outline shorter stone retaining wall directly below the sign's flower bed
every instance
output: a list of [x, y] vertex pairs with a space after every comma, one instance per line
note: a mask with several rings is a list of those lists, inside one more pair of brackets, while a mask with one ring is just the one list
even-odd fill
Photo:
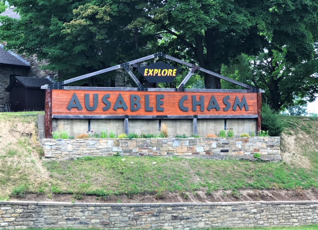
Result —
[[280, 137], [43, 139], [45, 159], [80, 156], [185, 156], [280, 160]]

